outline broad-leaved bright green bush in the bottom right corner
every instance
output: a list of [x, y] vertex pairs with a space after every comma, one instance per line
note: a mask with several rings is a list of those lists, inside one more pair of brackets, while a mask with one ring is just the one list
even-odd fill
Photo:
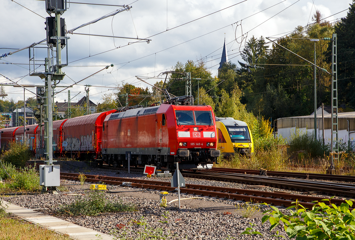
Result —
[[289, 238], [296, 240], [355, 240], [355, 210], [349, 209], [353, 202], [346, 200], [346, 203], [338, 207], [331, 204], [329, 199], [322, 201], [329, 201], [329, 205], [318, 202], [313, 205], [311, 211], [296, 201], [296, 206], [288, 208], [296, 208], [296, 211], [290, 210], [290, 215], [285, 215], [278, 208], [271, 206], [273, 209], [264, 212], [271, 214], [263, 216], [262, 223], [269, 220], [271, 231], [283, 222]]

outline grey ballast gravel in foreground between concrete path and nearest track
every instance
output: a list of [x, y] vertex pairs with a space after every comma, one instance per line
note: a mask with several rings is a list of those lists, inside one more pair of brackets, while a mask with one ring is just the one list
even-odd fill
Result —
[[[63, 181], [63, 184], [77, 184], [66, 185], [68, 191], [87, 187], [87, 185], [81, 186], [78, 182], [73, 181]], [[131, 187], [115, 187], [115, 191], [134, 190]], [[149, 229], [162, 228], [165, 234], [170, 234], [170, 239], [276, 239], [272, 236], [276, 234], [276, 230], [288, 239], [283, 227], [277, 227], [270, 232], [270, 224], [261, 223], [263, 207], [250, 218], [240, 216], [240, 211], [236, 207], [239, 203], [210, 198], [181, 200], [181, 209], [178, 209], [177, 201], [169, 204], [168, 208], [163, 208], [159, 205], [159, 192], [157, 191], [105, 193], [110, 202], [122, 201], [135, 204], [137, 211], [134, 212], [104, 213], [94, 217], [67, 217], [58, 216], [55, 213], [60, 206], [75, 202], [77, 198], [85, 197], [84, 194], [87, 191], [76, 191], [75, 193], [79, 194], [77, 196], [42, 194], [10, 196], [3, 197], [3, 199], [21, 207], [54, 214], [69, 222], [102, 233], [113, 234], [116, 237], [127, 233], [135, 239], [138, 231], [142, 230], [138, 223], [146, 221], [150, 226]], [[189, 196], [182, 195], [181, 199], [185, 197]], [[168, 196], [168, 201], [176, 198], [176, 193], [171, 194]], [[250, 227], [250, 223], [255, 224], [255, 230], [262, 235], [254, 234], [252, 238], [249, 235], [241, 235], [247, 227]]]

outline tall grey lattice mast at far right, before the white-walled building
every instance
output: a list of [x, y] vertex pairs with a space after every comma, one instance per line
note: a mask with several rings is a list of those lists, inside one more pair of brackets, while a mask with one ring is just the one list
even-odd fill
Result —
[[[338, 159], [339, 154], [339, 139], [338, 139], [338, 74], [337, 74], [337, 34], [332, 36], [332, 131], [331, 131], [331, 166], [330, 170], [334, 169], [334, 160]], [[334, 140], [335, 138], [335, 140]], [[334, 152], [334, 153], [333, 153]]]

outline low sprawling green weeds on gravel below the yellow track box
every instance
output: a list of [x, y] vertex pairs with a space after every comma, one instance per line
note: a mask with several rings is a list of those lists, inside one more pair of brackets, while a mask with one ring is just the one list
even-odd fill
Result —
[[61, 206], [57, 212], [67, 216], [95, 216], [98, 213], [134, 211], [135, 209], [136, 207], [130, 203], [108, 201], [104, 192], [90, 191], [86, 197], [78, 197], [75, 202]]

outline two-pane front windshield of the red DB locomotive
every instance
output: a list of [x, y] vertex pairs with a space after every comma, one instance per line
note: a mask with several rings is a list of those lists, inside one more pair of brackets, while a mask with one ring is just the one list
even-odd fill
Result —
[[175, 111], [178, 125], [213, 125], [211, 111]]

